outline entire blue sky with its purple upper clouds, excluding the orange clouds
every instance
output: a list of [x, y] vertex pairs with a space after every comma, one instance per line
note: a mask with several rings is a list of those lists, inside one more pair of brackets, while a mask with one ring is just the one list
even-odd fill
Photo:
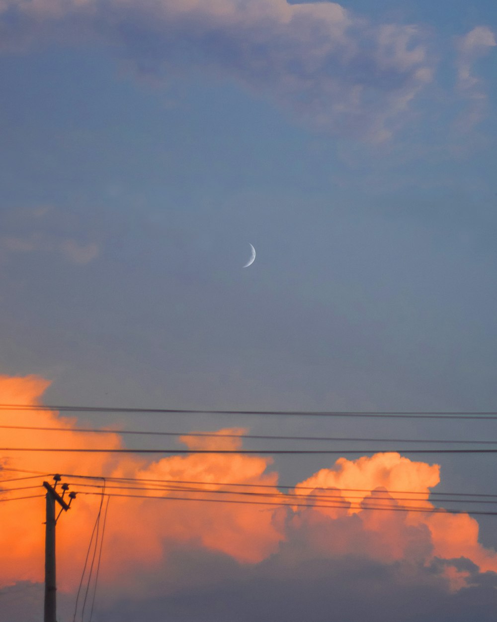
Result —
[[1, 373], [51, 403], [495, 410], [495, 2], [0, 0], [0, 32]]

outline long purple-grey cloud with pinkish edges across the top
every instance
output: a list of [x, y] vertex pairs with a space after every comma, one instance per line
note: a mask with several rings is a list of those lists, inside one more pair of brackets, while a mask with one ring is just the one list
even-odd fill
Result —
[[435, 65], [421, 27], [376, 25], [335, 2], [3, 0], [1, 6], [9, 14], [4, 46], [65, 31], [92, 33], [121, 45], [139, 70], [221, 72], [316, 128], [373, 141], [391, 136]]

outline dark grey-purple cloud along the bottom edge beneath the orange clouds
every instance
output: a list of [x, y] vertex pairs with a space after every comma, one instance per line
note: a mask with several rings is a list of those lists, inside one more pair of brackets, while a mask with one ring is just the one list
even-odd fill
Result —
[[380, 564], [357, 557], [303, 559], [295, 543], [251, 569], [209, 554], [171, 559], [178, 574], [189, 573], [188, 588], [165, 580], [163, 595], [123, 600], [99, 611], [102, 619], [138, 618], [204, 622], [408, 622], [493, 620], [495, 573], [478, 573], [467, 560], [455, 562], [470, 575], [471, 587], [457, 593], [430, 567], [399, 562]]

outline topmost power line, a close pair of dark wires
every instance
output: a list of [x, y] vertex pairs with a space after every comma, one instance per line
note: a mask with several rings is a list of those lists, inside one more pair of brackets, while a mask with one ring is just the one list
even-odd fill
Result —
[[497, 411], [258, 411], [209, 410], [178, 408], [142, 408], [121, 406], [42, 406], [34, 404], [0, 404], [1, 411], [58, 411], [58, 412], [122, 412], [131, 414], [191, 414], [191, 415], [267, 415], [285, 417], [389, 417], [414, 419], [497, 419]]

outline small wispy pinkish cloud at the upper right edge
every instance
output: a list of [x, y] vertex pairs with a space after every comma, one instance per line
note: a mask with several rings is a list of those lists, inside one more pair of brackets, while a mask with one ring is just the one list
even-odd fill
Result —
[[488, 26], [476, 26], [457, 41], [457, 78], [458, 89], [468, 100], [468, 108], [458, 126], [464, 129], [472, 128], [485, 117], [487, 96], [485, 85], [481, 78], [475, 76], [475, 62], [490, 53], [495, 47], [495, 34]]

